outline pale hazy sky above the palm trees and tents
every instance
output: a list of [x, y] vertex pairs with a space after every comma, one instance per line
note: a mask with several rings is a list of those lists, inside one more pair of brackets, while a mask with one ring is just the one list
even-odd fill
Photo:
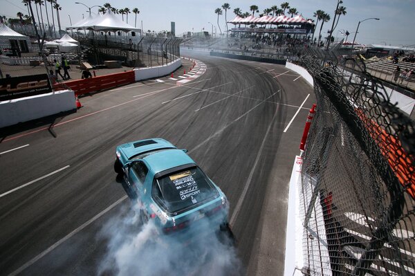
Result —
[[[75, 0], [76, 1], [76, 0]], [[72, 23], [82, 19], [82, 14], [86, 16], [88, 9], [80, 4], [75, 4], [71, 0], [57, 0], [62, 11], [60, 13], [62, 26], [70, 26], [69, 16]], [[324, 23], [322, 34], [326, 36], [327, 30], [331, 28], [334, 17], [334, 10], [338, 0], [151, 0], [151, 1], [133, 1], [133, 0], [117, 0], [117, 1], [100, 1], [100, 0], [82, 0], [80, 2], [86, 6], [104, 5], [111, 3], [115, 8], [138, 8], [140, 14], [137, 16], [137, 28], [140, 28], [141, 21], [143, 30], [170, 30], [170, 22], [176, 23], [176, 35], [183, 33], [199, 32], [201, 30], [212, 30], [212, 24], [217, 27], [217, 15], [214, 13], [216, 8], [221, 8], [223, 3], [230, 4], [230, 10], [227, 11], [228, 21], [234, 19], [234, 8], [240, 8], [243, 12], [249, 12], [249, 7], [256, 5], [259, 7], [259, 13], [271, 6], [280, 6], [281, 3], [287, 1], [291, 8], [297, 8], [297, 11], [305, 18], [312, 18], [316, 10], [324, 10], [331, 16], [331, 21]], [[414, 11], [415, 0], [342, 0], [340, 6], [346, 7], [347, 14], [340, 17], [338, 27], [333, 35], [335, 37], [344, 38], [339, 30], [348, 30], [348, 40], [353, 40], [354, 33], [358, 26], [358, 22], [370, 17], [378, 17], [380, 20], [367, 20], [360, 24], [356, 42], [361, 44], [383, 44], [392, 46], [414, 46], [415, 44], [415, 24]], [[0, 15], [6, 17], [17, 17], [17, 12], [27, 14], [27, 9], [21, 0], [0, 0]], [[92, 8], [92, 12], [98, 12], [98, 8]], [[45, 13], [45, 12], [44, 12]], [[69, 15], [69, 16], [68, 16]], [[287, 12], [286, 12], [286, 15]], [[121, 18], [121, 15], [119, 15]], [[125, 17], [125, 15], [124, 15]], [[44, 15], [46, 20], [46, 15]], [[56, 20], [56, 19], [55, 19]], [[125, 21], [125, 18], [124, 18]], [[129, 24], [134, 25], [135, 15], [129, 15]], [[212, 22], [212, 24], [208, 23]], [[221, 30], [226, 30], [225, 12], [219, 16], [219, 26]], [[232, 24], [228, 24], [228, 28], [232, 28]], [[320, 30], [320, 23], [317, 31]]]

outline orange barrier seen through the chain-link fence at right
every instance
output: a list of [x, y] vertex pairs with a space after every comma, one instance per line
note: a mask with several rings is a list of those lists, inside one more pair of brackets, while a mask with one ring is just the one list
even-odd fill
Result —
[[387, 134], [385, 129], [382, 129], [374, 120], [367, 118], [362, 110], [356, 109], [356, 113], [369, 131], [371, 138], [378, 144], [382, 155], [387, 158], [389, 166], [395, 172], [400, 184], [405, 187], [412, 199], [415, 199], [414, 165], [403, 149], [400, 140]]

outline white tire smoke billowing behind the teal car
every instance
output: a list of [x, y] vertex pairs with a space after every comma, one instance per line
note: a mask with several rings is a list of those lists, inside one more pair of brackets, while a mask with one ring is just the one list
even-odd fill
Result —
[[[169, 235], [159, 235], [150, 220], [142, 225], [140, 210], [116, 215], [100, 234], [107, 239], [107, 255], [98, 275], [241, 275], [241, 261], [232, 242], [214, 234], [183, 245]], [[203, 228], [212, 229], [206, 221]], [[218, 226], [214, 226], [217, 228]]]

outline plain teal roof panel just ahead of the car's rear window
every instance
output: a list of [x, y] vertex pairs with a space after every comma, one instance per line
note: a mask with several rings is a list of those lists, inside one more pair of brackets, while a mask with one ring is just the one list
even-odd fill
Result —
[[186, 164], [194, 164], [194, 160], [190, 158], [181, 149], [166, 149], [164, 151], [156, 151], [143, 158], [154, 174], [163, 172], [166, 169], [178, 167]]

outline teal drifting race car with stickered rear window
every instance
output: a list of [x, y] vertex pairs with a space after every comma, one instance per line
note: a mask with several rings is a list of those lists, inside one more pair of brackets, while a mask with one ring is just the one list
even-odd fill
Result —
[[225, 194], [185, 152], [160, 138], [128, 142], [116, 148], [114, 170], [142, 221], [154, 219], [164, 234], [214, 230], [233, 239]]

